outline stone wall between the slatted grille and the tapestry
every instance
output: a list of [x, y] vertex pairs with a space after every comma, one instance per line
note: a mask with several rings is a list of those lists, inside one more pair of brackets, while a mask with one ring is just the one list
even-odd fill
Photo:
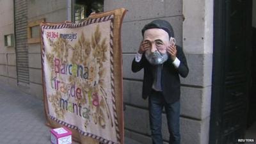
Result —
[[[63, 22], [67, 20], [67, 1], [63, 0], [29, 0], [28, 21], [45, 19], [46, 22]], [[40, 43], [28, 44], [29, 87], [31, 95], [42, 99], [42, 65]]]

